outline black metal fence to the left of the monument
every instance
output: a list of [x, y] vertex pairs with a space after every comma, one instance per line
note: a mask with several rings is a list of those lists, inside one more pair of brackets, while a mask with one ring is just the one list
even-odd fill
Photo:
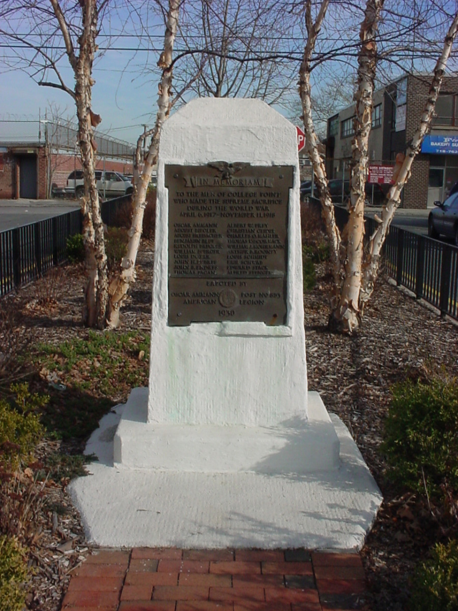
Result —
[[[101, 216], [112, 225], [131, 196], [101, 203]], [[67, 240], [81, 233], [80, 210], [0, 232], [0, 296], [40, 277], [67, 259]]]

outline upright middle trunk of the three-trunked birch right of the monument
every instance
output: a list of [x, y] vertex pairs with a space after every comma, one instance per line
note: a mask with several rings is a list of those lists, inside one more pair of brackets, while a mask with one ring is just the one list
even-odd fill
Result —
[[368, 0], [360, 29], [361, 48], [358, 53], [358, 87], [355, 93], [355, 136], [352, 141], [349, 218], [344, 232], [346, 241], [344, 282], [338, 306], [332, 313], [335, 326], [341, 327], [343, 332], [350, 334], [360, 324], [365, 184], [376, 76], [376, 32], [382, 7], [383, 0]]

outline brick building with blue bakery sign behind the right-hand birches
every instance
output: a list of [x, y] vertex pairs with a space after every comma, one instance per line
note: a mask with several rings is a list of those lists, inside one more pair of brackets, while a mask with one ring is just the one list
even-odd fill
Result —
[[[374, 92], [369, 164], [392, 166], [396, 154], [405, 153], [420, 125], [430, 84], [431, 75], [408, 75]], [[349, 178], [354, 116], [353, 104], [328, 119], [326, 165], [329, 178]], [[445, 76], [431, 133], [413, 161], [412, 177], [402, 192], [402, 206], [432, 207], [436, 200], [446, 198], [457, 180], [458, 79]]]

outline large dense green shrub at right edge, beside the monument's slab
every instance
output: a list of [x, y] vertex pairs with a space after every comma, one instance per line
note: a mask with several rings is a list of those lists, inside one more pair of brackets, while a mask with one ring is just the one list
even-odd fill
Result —
[[392, 390], [382, 450], [388, 477], [429, 496], [458, 491], [458, 383], [434, 378]]

